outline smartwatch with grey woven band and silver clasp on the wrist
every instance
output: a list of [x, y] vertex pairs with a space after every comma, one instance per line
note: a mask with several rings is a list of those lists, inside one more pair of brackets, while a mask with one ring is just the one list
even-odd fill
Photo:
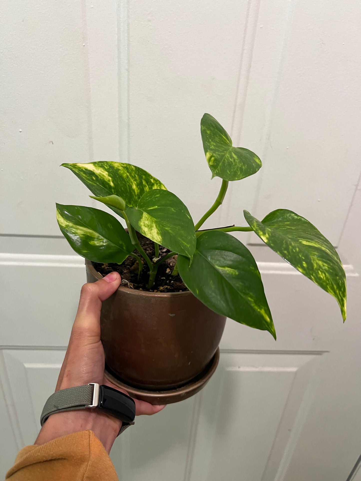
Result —
[[133, 399], [123, 392], [96, 382], [54, 392], [45, 403], [40, 424], [42, 426], [49, 416], [55, 413], [94, 408], [101, 409], [104, 413], [122, 421], [119, 434], [134, 424]]

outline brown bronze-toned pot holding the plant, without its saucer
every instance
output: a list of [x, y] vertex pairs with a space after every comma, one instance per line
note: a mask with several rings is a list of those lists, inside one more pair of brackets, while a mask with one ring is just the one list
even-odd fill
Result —
[[[86, 259], [88, 282], [103, 276]], [[105, 363], [131, 386], [167, 390], [196, 378], [215, 355], [226, 318], [190, 291], [157, 293], [120, 286], [103, 302]]]

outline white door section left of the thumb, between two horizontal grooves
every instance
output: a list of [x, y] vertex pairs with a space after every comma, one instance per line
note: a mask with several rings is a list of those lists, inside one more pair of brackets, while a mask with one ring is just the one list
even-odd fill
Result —
[[1, 344], [66, 346], [86, 282], [84, 259], [0, 253], [0, 271]]

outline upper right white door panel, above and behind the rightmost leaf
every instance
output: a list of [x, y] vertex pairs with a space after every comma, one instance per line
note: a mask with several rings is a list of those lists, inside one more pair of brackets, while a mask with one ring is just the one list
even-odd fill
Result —
[[[360, 174], [355, 139], [361, 126], [361, 7], [357, 1], [345, 9], [334, 0], [327, 8], [322, 1], [280, 2], [289, 6], [284, 22], [273, 16], [277, 3], [260, 2], [241, 134], [242, 143], [257, 142], [260, 132], [263, 139], [255, 215], [288, 208], [337, 245]], [[268, 63], [273, 30], [283, 35], [283, 46]], [[268, 70], [278, 61], [277, 80], [269, 85]], [[264, 92], [270, 106], [262, 102]], [[262, 243], [255, 234], [251, 242]]]

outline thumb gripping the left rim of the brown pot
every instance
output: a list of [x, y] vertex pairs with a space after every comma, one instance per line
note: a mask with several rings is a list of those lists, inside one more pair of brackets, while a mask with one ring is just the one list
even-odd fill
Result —
[[111, 272], [97, 282], [84, 284], [80, 292], [77, 316], [73, 332], [85, 331], [94, 341], [100, 340], [100, 310], [102, 301], [108, 299], [119, 287], [121, 277], [117, 272]]

